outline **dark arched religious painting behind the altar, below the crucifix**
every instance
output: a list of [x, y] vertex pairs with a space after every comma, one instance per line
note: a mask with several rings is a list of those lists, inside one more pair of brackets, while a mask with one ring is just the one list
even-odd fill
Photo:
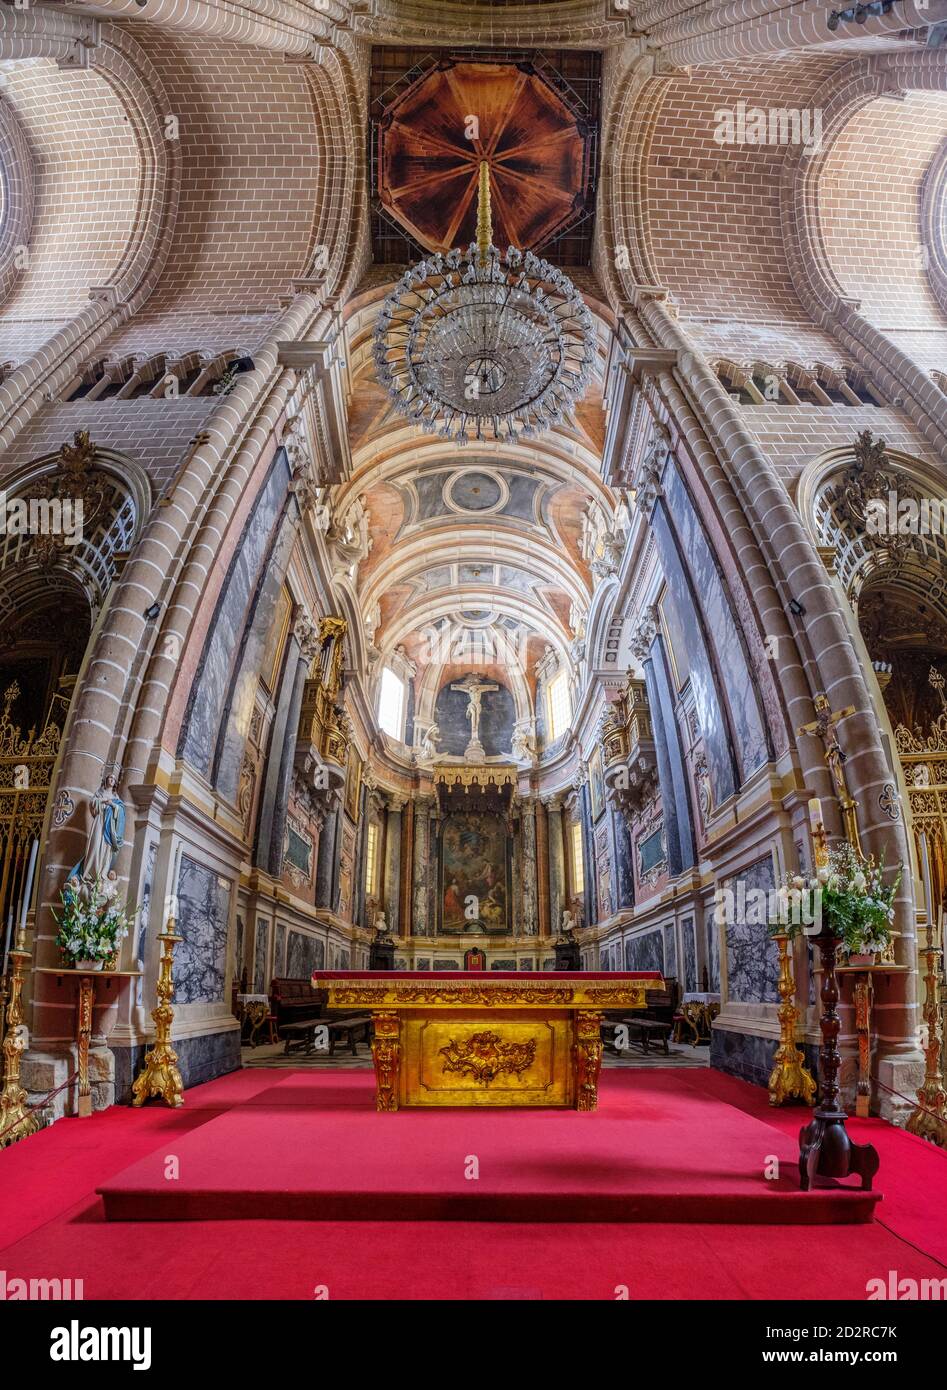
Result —
[[510, 853], [506, 824], [489, 812], [456, 812], [439, 840], [439, 930], [508, 935]]

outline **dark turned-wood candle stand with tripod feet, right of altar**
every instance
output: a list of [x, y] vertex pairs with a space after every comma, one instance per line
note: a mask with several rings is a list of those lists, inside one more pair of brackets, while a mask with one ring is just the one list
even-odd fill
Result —
[[857, 1173], [862, 1191], [871, 1191], [879, 1168], [877, 1150], [872, 1144], [855, 1144], [845, 1129], [845, 1112], [839, 1105], [839, 937], [822, 931], [812, 938], [822, 960], [822, 1047], [819, 1048], [819, 1081], [822, 1098], [808, 1125], [800, 1130], [800, 1186], [804, 1193], [816, 1179], [836, 1186], [837, 1179]]

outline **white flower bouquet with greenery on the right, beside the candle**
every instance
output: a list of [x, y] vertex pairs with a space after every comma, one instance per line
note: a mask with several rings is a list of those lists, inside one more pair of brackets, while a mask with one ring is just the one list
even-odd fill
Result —
[[884, 883], [884, 859], [862, 860], [848, 842], [829, 851], [829, 862], [815, 876], [788, 874], [776, 890], [776, 912], [769, 922], [772, 934], [790, 937], [801, 931], [815, 935], [829, 931], [840, 938], [847, 955], [876, 955], [891, 942], [894, 898], [901, 884], [898, 866], [894, 881]]

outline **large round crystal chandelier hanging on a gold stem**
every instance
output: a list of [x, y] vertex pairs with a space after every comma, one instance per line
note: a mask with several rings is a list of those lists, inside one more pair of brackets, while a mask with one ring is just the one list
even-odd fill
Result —
[[456, 443], [531, 438], [588, 386], [592, 316], [560, 270], [492, 245], [489, 167], [480, 165], [477, 240], [402, 275], [374, 332], [378, 379], [395, 409]]

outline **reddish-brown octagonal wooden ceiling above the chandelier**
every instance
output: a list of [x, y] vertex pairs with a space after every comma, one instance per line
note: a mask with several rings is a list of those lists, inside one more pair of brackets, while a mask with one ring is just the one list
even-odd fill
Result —
[[594, 199], [588, 122], [530, 63], [444, 60], [377, 126], [378, 196], [427, 250], [473, 240], [489, 164], [494, 242], [540, 250]]

